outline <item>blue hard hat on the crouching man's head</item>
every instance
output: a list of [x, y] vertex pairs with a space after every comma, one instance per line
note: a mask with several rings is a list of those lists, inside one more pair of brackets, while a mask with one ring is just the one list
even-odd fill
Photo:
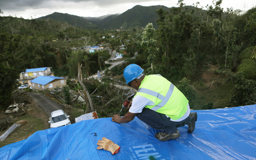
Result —
[[123, 70], [123, 77], [126, 81], [125, 84], [137, 78], [140, 74], [143, 73], [143, 71], [144, 70], [142, 70], [142, 68], [137, 64], [130, 64], [126, 66]]

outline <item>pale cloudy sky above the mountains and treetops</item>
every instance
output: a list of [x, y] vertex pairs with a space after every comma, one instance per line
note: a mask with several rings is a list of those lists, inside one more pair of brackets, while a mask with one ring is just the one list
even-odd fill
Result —
[[[199, 2], [205, 7], [212, 5], [212, 0], [184, 0], [186, 5]], [[39, 18], [54, 12], [68, 13], [84, 17], [99, 17], [106, 14], [123, 13], [136, 5], [166, 7], [178, 7], [178, 0], [156, 1], [156, 0], [0, 0], [1, 16], [17, 16], [25, 19]], [[221, 5], [224, 10], [233, 7], [247, 11], [256, 5], [256, 0], [223, 0]]]

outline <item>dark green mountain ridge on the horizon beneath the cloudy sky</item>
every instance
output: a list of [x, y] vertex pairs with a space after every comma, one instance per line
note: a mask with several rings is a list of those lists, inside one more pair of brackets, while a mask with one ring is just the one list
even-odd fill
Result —
[[[189, 9], [195, 7], [186, 6]], [[80, 17], [76, 15], [70, 15], [68, 13], [58, 13], [54, 12], [53, 14], [39, 17], [37, 19], [52, 19], [61, 22], [68, 22], [71, 26], [78, 28], [87, 28], [87, 29], [120, 29], [120, 28], [135, 28], [135, 27], [145, 27], [148, 23], [152, 23], [154, 28], [158, 28], [156, 20], [158, 15], [156, 10], [163, 8], [165, 11], [169, 11], [170, 8], [165, 6], [149, 6], [144, 7], [137, 5], [132, 9], [129, 9], [122, 14], [109, 14], [100, 17]]]

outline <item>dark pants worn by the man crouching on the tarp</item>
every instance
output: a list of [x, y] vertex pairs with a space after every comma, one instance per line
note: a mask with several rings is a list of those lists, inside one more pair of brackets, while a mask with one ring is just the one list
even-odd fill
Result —
[[175, 133], [178, 127], [187, 125], [191, 121], [190, 116], [180, 122], [170, 121], [170, 118], [166, 117], [166, 115], [148, 108], [143, 108], [142, 112], [137, 114], [137, 117], [148, 126], [167, 134]]

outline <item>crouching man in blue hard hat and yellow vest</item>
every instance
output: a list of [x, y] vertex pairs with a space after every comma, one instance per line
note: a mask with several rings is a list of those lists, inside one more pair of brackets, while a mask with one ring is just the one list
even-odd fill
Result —
[[123, 117], [114, 115], [113, 122], [128, 123], [137, 116], [148, 126], [160, 130], [155, 138], [160, 141], [177, 139], [178, 127], [188, 125], [188, 133], [196, 126], [197, 112], [190, 112], [188, 100], [171, 82], [161, 75], [144, 75], [144, 70], [137, 64], [125, 67], [125, 84], [138, 90], [129, 112]]

